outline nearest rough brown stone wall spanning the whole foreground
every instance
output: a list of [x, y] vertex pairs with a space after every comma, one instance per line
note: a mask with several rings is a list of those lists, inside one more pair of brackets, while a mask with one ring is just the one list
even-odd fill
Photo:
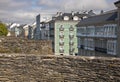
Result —
[[2, 54], [0, 82], [120, 82], [120, 59]]

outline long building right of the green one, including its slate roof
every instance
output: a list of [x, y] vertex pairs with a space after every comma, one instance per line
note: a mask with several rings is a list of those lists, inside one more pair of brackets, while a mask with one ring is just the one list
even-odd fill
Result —
[[117, 55], [117, 10], [91, 16], [77, 24], [78, 55]]

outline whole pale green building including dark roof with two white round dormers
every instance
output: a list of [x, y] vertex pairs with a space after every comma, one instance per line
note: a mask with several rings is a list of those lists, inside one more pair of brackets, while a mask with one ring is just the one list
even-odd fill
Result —
[[85, 16], [85, 13], [59, 12], [49, 21], [49, 35], [55, 55], [77, 55], [76, 24]]

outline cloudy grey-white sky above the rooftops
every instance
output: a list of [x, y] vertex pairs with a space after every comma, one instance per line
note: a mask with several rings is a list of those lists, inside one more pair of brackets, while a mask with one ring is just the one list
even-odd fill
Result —
[[108, 11], [115, 9], [117, 0], [0, 0], [0, 20], [3, 22], [32, 23], [39, 13], [82, 10]]

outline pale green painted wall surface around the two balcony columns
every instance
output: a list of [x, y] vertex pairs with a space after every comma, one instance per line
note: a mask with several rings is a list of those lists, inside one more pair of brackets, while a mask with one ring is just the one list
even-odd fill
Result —
[[78, 49], [77, 49], [77, 37], [76, 37], [76, 33], [77, 33], [77, 30], [76, 30], [76, 24], [78, 22], [77, 21], [56, 21], [55, 22], [55, 53], [57, 54], [60, 54], [59, 53], [59, 49], [60, 49], [60, 46], [59, 46], [59, 41], [60, 41], [60, 38], [59, 38], [59, 34], [60, 34], [60, 31], [59, 31], [59, 28], [61, 25], [63, 25], [63, 28], [64, 28], [64, 31], [63, 31], [63, 34], [64, 34], [64, 55], [70, 55], [69, 53], [69, 48], [70, 48], [70, 45], [69, 45], [69, 42], [70, 42], [70, 38], [69, 38], [69, 34], [70, 34], [70, 31], [69, 31], [69, 28], [70, 26], [72, 25], [73, 28], [74, 28], [74, 31], [72, 31], [72, 33], [74, 34], [74, 38], [72, 39], [72, 41], [74, 42], [74, 45], [73, 45], [73, 48], [75, 48], [73, 54], [75, 53], [78, 53]]

